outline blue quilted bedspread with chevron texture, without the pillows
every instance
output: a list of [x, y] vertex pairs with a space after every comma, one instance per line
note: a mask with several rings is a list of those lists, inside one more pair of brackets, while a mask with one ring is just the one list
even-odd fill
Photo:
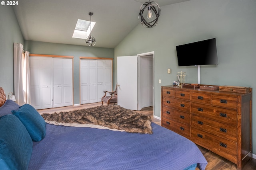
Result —
[[200, 170], [206, 160], [190, 140], [152, 123], [153, 134], [46, 124], [29, 170]]

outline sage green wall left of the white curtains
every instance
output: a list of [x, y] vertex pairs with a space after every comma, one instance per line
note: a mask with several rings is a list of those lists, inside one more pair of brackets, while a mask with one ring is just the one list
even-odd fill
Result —
[[14, 92], [13, 44], [24, 43], [12, 6], [0, 6], [0, 87]]

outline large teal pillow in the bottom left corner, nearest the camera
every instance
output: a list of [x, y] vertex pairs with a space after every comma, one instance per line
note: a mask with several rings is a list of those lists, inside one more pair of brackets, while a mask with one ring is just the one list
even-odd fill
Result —
[[0, 169], [28, 169], [32, 146], [26, 127], [16, 116], [0, 117]]

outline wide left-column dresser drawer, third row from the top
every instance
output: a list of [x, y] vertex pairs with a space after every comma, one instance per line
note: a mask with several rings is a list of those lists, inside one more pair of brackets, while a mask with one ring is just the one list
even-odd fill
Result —
[[179, 121], [181, 123], [190, 125], [190, 113], [185, 113], [175, 109], [170, 109], [170, 107], [163, 106], [163, 116], [168, 117], [174, 121]]

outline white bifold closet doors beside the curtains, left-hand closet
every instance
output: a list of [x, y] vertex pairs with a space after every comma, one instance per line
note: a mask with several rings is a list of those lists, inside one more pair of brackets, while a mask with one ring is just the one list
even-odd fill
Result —
[[36, 109], [73, 105], [73, 59], [30, 57], [31, 104]]

